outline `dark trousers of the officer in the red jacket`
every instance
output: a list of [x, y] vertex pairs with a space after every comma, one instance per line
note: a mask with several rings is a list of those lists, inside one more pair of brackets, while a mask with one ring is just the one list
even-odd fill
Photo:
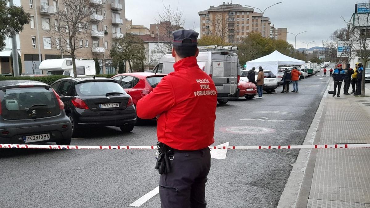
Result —
[[211, 168], [209, 148], [174, 154], [171, 172], [159, 179], [162, 208], [205, 208], [205, 187]]

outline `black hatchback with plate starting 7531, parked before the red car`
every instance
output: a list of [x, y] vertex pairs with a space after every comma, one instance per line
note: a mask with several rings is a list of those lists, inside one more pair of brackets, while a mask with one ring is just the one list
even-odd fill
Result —
[[102, 77], [63, 78], [51, 87], [64, 103], [73, 137], [84, 127], [117, 126], [124, 132], [134, 129], [136, 110], [132, 98], [117, 81]]

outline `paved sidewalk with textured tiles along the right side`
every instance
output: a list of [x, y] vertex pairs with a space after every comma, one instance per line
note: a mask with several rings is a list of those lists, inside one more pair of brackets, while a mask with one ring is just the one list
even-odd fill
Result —
[[[329, 83], [330, 90], [333, 84]], [[342, 95], [343, 85], [341, 91], [339, 99], [324, 95], [313, 144], [370, 144], [370, 97]], [[290, 175], [293, 188], [300, 190], [296, 204], [284, 203], [283, 193], [278, 207], [370, 208], [370, 148], [316, 149], [307, 155], [301, 184], [295, 177], [302, 173], [294, 171], [294, 164]]]

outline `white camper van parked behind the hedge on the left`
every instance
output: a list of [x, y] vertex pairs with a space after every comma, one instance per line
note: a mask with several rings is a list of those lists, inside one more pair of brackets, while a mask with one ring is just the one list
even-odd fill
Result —
[[[86, 75], [95, 74], [94, 60], [78, 60], [76, 61], [77, 77], [85, 77]], [[74, 77], [72, 58], [57, 58], [43, 60], [38, 67], [41, 71], [46, 71], [45, 74], [65, 75]]]

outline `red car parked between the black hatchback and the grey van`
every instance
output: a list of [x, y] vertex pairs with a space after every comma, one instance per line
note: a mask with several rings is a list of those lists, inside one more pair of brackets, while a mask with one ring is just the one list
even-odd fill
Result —
[[136, 72], [117, 74], [112, 79], [117, 80], [118, 84], [132, 97], [134, 105], [149, 94], [162, 80], [166, 74], [155, 74], [150, 72]]

